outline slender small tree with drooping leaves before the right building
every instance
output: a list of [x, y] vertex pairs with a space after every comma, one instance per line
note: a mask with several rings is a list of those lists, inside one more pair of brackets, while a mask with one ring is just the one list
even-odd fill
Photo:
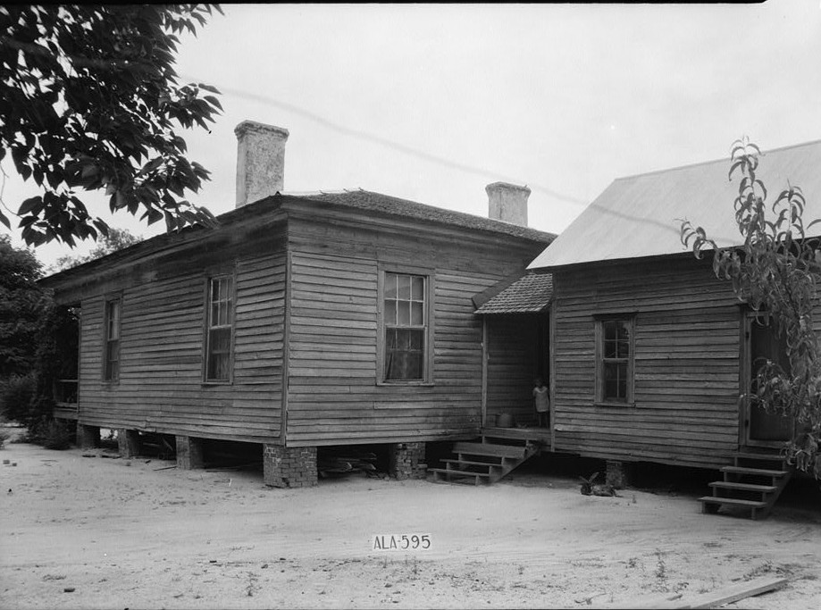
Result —
[[697, 258], [711, 251], [716, 277], [732, 280], [742, 301], [775, 322], [789, 371], [768, 360], [744, 398], [768, 412], [794, 418], [797, 434], [787, 447], [788, 457], [801, 470], [821, 478], [821, 345], [813, 322], [819, 305], [821, 243], [810, 232], [821, 221], [805, 226], [806, 200], [801, 189], [792, 185], [767, 206], [767, 188], [758, 178], [760, 155], [758, 146], [746, 139], [733, 144], [729, 178], [741, 174], [733, 208], [742, 245], [718, 247], [691, 221], [682, 221], [681, 238]]

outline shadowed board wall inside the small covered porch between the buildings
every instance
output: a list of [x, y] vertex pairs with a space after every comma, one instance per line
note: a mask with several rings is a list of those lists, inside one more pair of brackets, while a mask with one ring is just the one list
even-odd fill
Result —
[[517, 423], [534, 423], [535, 316], [492, 315], [487, 323], [488, 425], [494, 425], [495, 416], [503, 413], [513, 414]]

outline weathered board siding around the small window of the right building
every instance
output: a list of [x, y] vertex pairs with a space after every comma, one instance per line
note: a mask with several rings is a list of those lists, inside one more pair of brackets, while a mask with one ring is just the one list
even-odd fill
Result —
[[[556, 450], [717, 467], [738, 448], [741, 312], [691, 257], [554, 273]], [[635, 313], [635, 405], [594, 400], [597, 313]]]

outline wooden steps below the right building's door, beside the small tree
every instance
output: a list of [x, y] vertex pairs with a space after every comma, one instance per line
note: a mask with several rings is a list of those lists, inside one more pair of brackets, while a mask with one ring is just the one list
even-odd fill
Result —
[[772, 451], [740, 451], [721, 472], [724, 480], [709, 484], [712, 495], [699, 498], [702, 513], [736, 508], [749, 510], [752, 519], [764, 519], [792, 476], [783, 457]]

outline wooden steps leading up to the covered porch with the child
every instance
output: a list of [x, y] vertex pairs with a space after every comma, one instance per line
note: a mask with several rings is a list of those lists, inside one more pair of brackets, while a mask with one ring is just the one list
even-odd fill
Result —
[[[501, 429], [500, 429], [501, 430]], [[540, 444], [519, 431], [487, 430], [473, 442], [454, 443], [444, 468], [429, 468], [437, 482], [490, 485], [540, 452]]]

